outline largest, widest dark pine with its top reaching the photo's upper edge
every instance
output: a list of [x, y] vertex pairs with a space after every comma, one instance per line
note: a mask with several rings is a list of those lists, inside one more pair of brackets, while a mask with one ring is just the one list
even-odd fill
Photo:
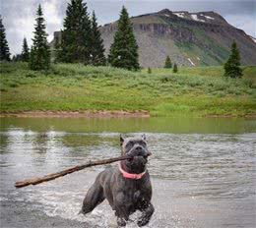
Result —
[[87, 4], [83, 0], [71, 0], [63, 26], [58, 59], [67, 63], [90, 63], [92, 28]]

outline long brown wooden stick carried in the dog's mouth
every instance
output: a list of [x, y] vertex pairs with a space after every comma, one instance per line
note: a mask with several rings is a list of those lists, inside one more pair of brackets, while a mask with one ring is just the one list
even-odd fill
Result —
[[125, 159], [129, 159], [129, 158], [131, 158], [131, 156], [119, 156], [119, 157], [114, 157], [114, 158], [109, 158], [109, 159], [104, 159], [104, 160], [99, 160], [99, 161], [89, 161], [86, 164], [77, 165], [75, 167], [65, 169], [65, 170], [57, 172], [57, 173], [48, 174], [48, 175], [43, 176], [43, 177], [27, 179], [27, 180], [24, 180], [24, 181], [18, 181], [18, 182], [15, 183], [15, 187], [16, 188], [23, 188], [23, 187], [26, 187], [26, 186], [29, 186], [29, 185], [38, 185], [42, 182], [51, 181], [51, 180], [54, 180], [56, 178], [63, 177], [67, 174], [74, 173], [74, 172], [80, 171], [82, 169], [91, 167], [91, 166], [109, 164], [109, 163], [112, 163], [112, 162], [115, 162], [115, 161], [125, 160]]

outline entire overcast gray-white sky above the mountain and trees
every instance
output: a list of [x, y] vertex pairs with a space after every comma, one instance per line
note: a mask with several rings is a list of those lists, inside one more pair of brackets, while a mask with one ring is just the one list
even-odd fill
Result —
[[[46, 19], [48, 40], [53, 31], [62, 28], [63, 18], [69, 0], [3, 0], [0, 14], [6, 28], [12, 54], [21, 52], [22, 40], [26, 36], [32, 44], [32, 30], [35, 12], [40, 3]], [[256, 37], [256, 0], [91, 0], [89, 12], [96, 11], [99, 25], [116, 21], [122, 5], [130, 16], [153, 13], [162, 9], [170, 11], [215, 11], [236, 28]]]

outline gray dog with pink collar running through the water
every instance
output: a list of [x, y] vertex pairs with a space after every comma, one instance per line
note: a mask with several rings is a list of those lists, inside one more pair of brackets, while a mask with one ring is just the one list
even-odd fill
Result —
[[123, 160], [118, 167], [107, 168], [97, 175], [95, 184], [83, 201], [81, 212], [87, 214], [107, 199], [115, 211], [118, 226], [125, 226], [129, 215], [136, 210], [142, 211], [137, 224], [144, 226], [154, 213], [152, 185], [146, 169], [151, 153], [145, 135], [141, 138], [120, 137], [120, 144], [122, 155], [131, 156], [131, 159]]

